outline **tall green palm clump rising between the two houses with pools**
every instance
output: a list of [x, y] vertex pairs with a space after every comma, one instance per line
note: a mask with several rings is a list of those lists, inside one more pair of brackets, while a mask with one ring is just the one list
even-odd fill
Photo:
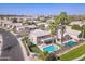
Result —
[[56, 35], [57, 35], [58, 27], [60, 26], [60, 29], [61, 29], [61, 42], [62, 42], [63, 33], [66, 30], [66, 25], [68, 23], [69, 23], [69, 20], [68, 20], [67, 13], [61, 12], [60, 15], [58, 17], [56, 17], [55, 21], [52, 22], [48, 25], [52, 35], [55, 35], [55, 31], [56, 31]]

